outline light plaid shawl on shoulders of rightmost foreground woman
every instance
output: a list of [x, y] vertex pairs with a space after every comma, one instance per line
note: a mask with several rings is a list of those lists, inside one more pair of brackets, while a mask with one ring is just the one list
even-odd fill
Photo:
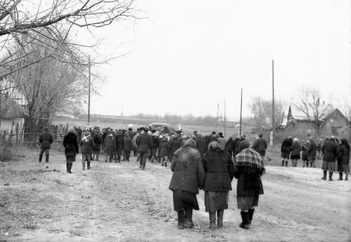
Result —
[[252, 168], [258, 168], [265, 172], [262, 157], [256, 152], [256, 150], [251, 148], [243, 149], [237, 154], [237, 156], [235, 156], [234, 166], [249, 166]]

